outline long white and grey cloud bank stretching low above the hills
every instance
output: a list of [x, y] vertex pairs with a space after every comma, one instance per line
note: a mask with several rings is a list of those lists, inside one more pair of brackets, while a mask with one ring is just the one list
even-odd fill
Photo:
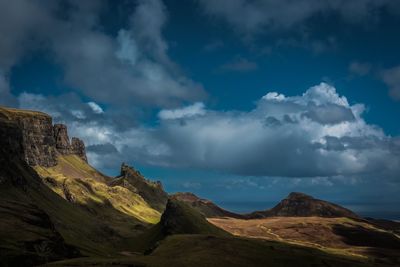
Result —
[[[26, 96], [19, 100], [27, 108], [40, 102]], [[70, 114], [68, 124], [87, 143], [90, 161], [101, 168], [128, 161], [240, 176], [391, 181], [400, 173], [400, 139], [366, 123], [362, 104], [350, 105], [325, 83], [300, 96], [269, 92], [247, 112], [210, 110], [202, 103], [166, 109], [157, 125], [123, 130], [107, 119], [107, 111], [82, 107], [76, 109], [86, 119]]]

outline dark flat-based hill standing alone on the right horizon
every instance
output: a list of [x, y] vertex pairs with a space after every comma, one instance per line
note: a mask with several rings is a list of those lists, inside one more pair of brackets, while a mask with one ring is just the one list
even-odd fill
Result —
[[254, 219], [272, 216], [358, 218], [357, 214], [339, 205], [297, 192], [290, 193], [272, 209], [247, 214], [246, 218]]

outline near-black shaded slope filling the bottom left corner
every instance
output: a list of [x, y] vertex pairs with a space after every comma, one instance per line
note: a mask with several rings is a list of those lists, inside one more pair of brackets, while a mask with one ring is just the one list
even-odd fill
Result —
[[32, 174], [0, 146], [0, 266], [32, 266], [80, 255], [30, 198], [30, 186], [37, 190], [40, 184], [38, 177], [29, 177]]

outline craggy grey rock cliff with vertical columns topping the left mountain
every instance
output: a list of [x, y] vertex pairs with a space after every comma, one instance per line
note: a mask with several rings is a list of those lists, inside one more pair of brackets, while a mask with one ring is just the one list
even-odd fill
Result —
[[57, 165], [57, 155], [77, 154], [86, 161], [85, 146], [77, 138], [70, 143], [67, 127], [42, 112], [0, 107], [0, 143], [30, 166]]

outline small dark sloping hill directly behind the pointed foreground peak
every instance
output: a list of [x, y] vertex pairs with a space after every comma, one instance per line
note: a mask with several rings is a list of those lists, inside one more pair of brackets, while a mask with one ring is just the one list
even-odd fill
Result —
[[198, 196], [190, 192], [175, 193], [171, 197], [173, 199], [177, 199], [179, 201], [189, 204], [192, 208], [196, 209], [207, 218], [214, 218], [214, 217], [243, 218], [243, 215], [224, 210], [215, 205], [212, 201], [199, 198]]

